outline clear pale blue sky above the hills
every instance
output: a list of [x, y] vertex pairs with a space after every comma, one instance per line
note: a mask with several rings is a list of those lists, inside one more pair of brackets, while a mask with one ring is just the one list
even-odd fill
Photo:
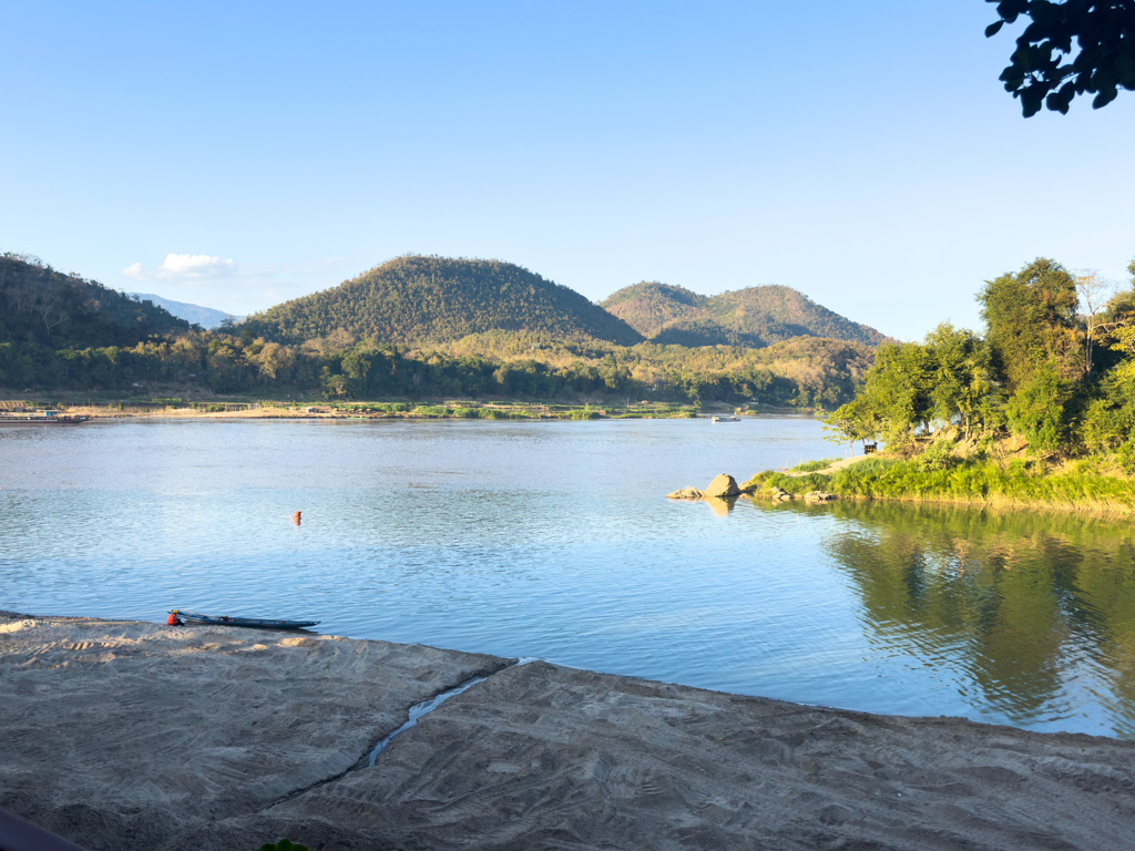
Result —
[[1129, 281], [1135, 92], [1024, 119], [981, 0], [0, 0], [0, 251], [232, 313], [407, 252], [762, 284], [900, 339]]

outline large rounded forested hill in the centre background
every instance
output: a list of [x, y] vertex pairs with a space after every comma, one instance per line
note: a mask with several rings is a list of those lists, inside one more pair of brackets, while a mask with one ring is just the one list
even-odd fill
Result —
[[280, 342], [337, 329], [384, 342], [440, 343], [493, 330], [592, 337], [632, 346], [642, 337], [585, 296], [498, 260], [402, 256], [242, 323]]

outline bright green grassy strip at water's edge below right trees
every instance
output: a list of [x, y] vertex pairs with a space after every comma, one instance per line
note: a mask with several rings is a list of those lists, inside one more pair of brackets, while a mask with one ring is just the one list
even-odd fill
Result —
[[920, 458], [866, 458], [825, 474], [757, 473], [742, 485], [755, 495], [781, 488], [793, 496], [827, 490], [847, 499], [1024, 506], [1102, 514], [1135, 509], [1135, 481], [1108, 470], [1105, 460], [1087, 460], [1048, 470], [1025, 461], [1001, 464], [989, 458], [956, 460], [926, 469]]

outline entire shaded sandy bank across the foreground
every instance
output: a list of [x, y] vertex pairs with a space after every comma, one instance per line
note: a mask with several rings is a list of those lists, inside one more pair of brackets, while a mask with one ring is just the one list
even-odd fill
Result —
[[[0, 804], [92, 849], [1127, 851], [1135, 835], [1135, 742], [373, 641], [0, 630]], [[478, 671], [498, 673], [375, 767], [312, 786]]]

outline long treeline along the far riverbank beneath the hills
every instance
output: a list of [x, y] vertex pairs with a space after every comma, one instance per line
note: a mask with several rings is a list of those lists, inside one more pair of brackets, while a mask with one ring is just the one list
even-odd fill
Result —
[[[463, 340], [452, 349], [412, 349], [373, 339], [317, 338], [302, 346], [250, 334], [187, 331], [134, 346], [52, 349], [0, 344], [0, 386], [114, 389], [133, 384], [197, 384], [213, 393], [313, 393], [334, 399], [579, 398], [757, 403], [832, 408], [851, 398], [871, 351], [802, 338], [751, 349], [687, 349], [595, 342]], [[518, 335], [519, 336], [519, 335]], [[494, 349], [520, 349], [521, 355]]]

